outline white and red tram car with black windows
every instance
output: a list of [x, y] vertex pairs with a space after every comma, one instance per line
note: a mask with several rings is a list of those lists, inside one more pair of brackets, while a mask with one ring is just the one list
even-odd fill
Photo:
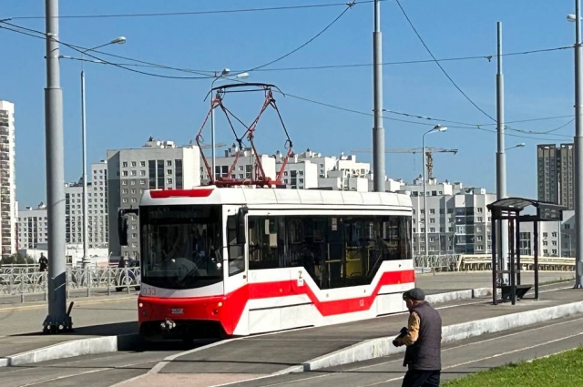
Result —
[[249, 335], [405, 310], [414, 287], [405, 195], [278, 188], [149, 190], [139, 331]]

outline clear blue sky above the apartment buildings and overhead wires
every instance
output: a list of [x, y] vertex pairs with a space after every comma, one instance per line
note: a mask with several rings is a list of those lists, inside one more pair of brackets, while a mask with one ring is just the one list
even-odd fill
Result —
[[[335, 1], [61, 0], [60, 13], [164, 13], [330, 3]], [[566, 21], [566, 15], [573, 12], [571, 0], [402, 0], [401, 4], [438, 58], [496, 54], [497, 21], [503, 23], [506, 53], [569, 46], [574, 41], [574, 25]], [[215, 15], [61, 19], [60, 38], [78, 46], [97, 46], [114, 37], [126, 36], [125, 45], [108, 46], [105, 50], [168, 66], [247, 69], [302, 45], [342, 11], [343, 6], [336, 6]], [[0, 0], [0, 19], [44, 15], [44, 12], [41, 1]], [[45, 28], [43, 19], [14, 19], [11, 23], [37, 30]], [[382, 4], [382, 30], [384, 62], [430, 58], [394, 0]], [[310, 45], [266, 68], [371, 63], [372, 31], [373, 5], [357, 3]], [[17, 199], [24, 208], [46, 198], [45, 46], [40, 39], [2, 29], [0, 44], [3, 47], [0, 99], [15, 103]], [[66, 46], [61, 46], [61, 54], [78, 56]], [[491, 62], [479, 59], [442, 64], [479, 107], [496, 117], [495, 58]], [[79, 62], [61, 61], [66, 181], [77, 180], [81, 173], [79, 70]], [[88, 64], [86, 72], [89, 162], [105, 158], [107, 149], [139, 147], [149, 136], [186, 144], [194, 138], [207, 113], [208, 104], [203, 99], [210, 88], [210, 79], [162, 79], [98, 64]], [[504, 73], [507, 121], [573, 114], [572, 50], [506, 56]], [[293, 95], [370, 112], [372, 74], [370, 66], [256, 71], [251, 73], [249, 81], [272, 83]], [[262, 98], [257, 94], [229, 98], [225, 104], [245, 120], [261, 107]], [[292, 97], [279, 96], [277, 103], [298, 151], [311, 148], [337, 155], [350, 153], [353, 148], [372, 148], [373, 117]], [[492, 124], [455, 89], [435, 63], [384, 66], [384, 108], [465, 123]], [[508, 125], [545, 131], [568, 121], [569, 118], [557, 118]], [[257, 131], [261, 152], [271, 154], [283, 149], [283, 133], [276, 124], [272, 115], [266, 115], [261, 121]], [[386, 119], [384, 128], [386, 148], [419, 148], [424, 130], [430, 127]], [[527, 144], [527, 148], [513, 149], [507, 154], [508, 193], [536, 198], [536, 144], [570, 142], [573, 132], [571, 123], [553, 136], [506, 137], [507, 147], [519, 142]], [[210, 139], [209, 132], [206, 133]], [[218, 141], [230, 143], [232, 139], [224, 119], [218, 117]], [[435, 155], [436, 178], [495, 191], [495, 133], [476, 128], [450, 128], [445, 133], [427, 136], [426, 145], [460, 150], [455, 156]], [[368, 161], [371, 155], [357, 157]], [[391, 178], [411, 180], [421, 173], [421, 165], [421, 155], [387, 154], [386, 157], [386, 172]]]

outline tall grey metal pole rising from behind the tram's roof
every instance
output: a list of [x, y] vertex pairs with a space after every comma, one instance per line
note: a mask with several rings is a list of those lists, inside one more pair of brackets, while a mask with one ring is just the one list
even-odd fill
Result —
[[373, 189], [375, 192], [384, 192], [383, 36], [380, 0], [374, 0], [373, 63]]

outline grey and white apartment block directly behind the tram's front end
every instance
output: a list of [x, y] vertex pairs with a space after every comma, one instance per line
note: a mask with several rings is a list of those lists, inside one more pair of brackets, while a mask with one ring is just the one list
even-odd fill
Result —
[[[139, 219], [129, 217], [128, 246], [120, 246], [118, 209], [137, 208], [146, 189], [183, 189], [199, 185], [199, 148], [181, 148], [172, 141], [150, 137], [142, 148], [107, 150], [107, 213], [109, 229], [112, 230], [109, 233], [112, 257], [139, 257]], [[94, 192], [100, 194], [101, 191]]]

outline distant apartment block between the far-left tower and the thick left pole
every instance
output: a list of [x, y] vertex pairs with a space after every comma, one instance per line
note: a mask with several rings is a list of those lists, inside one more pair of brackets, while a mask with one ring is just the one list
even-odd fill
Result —
[[18, 250], [46, 249], [48, 243], [48, 218], [46, 206], [40, 203], [36, 209], [27, 207], [18, 211]]

